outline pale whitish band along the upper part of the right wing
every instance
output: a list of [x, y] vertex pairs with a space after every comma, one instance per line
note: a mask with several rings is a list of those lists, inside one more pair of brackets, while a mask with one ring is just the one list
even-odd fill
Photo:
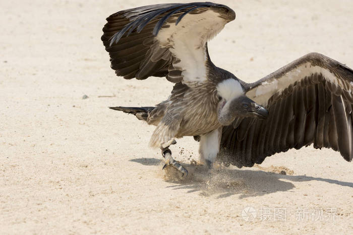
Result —
[[260, 86], [257, 86], [256, 88], [247, 92], [246, 95], [256, 103], [262, 106], [266, 106], [268, 100], [276, 92], [281, 93], [290, 84], [301, 81], [306, 76], [311, 76], [314, 73], [321, 73], [326, 81], [331, 82], [336, 86], [342, 85], [340, 84], [337, 77], [332, 72], [330, 72], [330, 70], [320, 66], [313, 66], [310, 62], [307, 62], [295, 69], [290, 70], [278, 79], [274, 79], [271, 82], [263, 82]]

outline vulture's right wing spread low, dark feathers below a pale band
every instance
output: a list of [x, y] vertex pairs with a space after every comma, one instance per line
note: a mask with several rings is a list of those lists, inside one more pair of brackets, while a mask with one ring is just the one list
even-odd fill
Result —
[[248, 84], [246, 95], [267, 107], [266, 120], [237, 119], [223, 127], [220, 158], [238, 167], [314, 144], [353, 157], [353, 70], [310, 53]]

